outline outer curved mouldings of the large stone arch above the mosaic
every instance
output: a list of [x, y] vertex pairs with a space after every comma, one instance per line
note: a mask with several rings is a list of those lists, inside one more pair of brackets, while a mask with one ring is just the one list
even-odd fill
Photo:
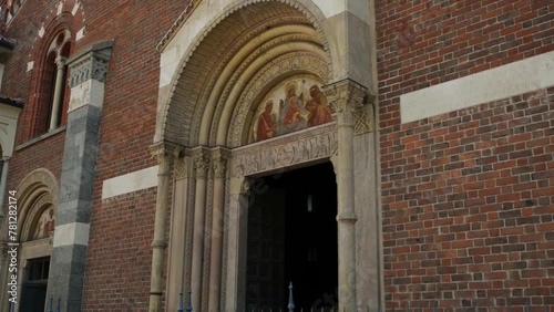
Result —
[[[320, 50], [328, 67], [331, 67], [329, 44], [321, 28], [325, 15], [311, 0], [237, 0], [227, 6], [224, 11], [225, 13], [203, 28], [184, 56], [178, 61], [177, 69], [181, 70], [172, 77], [165, 93], [168, 95], [161, 93], [158, 125], [156, 126], [158, 132], [154, 138], [155, 141], [164, 139], [184, 146], [214, 144], [213, 139], [208, 137], [208, 135], [213, 134], [213, 131], [211, 131], [211, 128], [213, 129], [212, 124], [205, 126], [207, 129], [203, 134], [193, 134], [199, 128], [198, 124], [206, 124], [206, 119], [208, 119], [208, 123], [212, 123], [212, 119], [217, 122], [215, 116], [209, 119], [204, 115], [206, 106], [209, 107], [209, 114], [213, 114], [218, 100], [213, 100], [213, 103], [209, 102], [212, 91], [225, 90], [228, 81], [222, 83], [218, 80], [222, 75], [234, 71], [234, 69], [229, 70], [227, 66], [232, 58], [245, 45], [253, 44], [260, 34], [270, 32], [273, 29], [285, 29], [287, 24], [294, 24], [298, 29], [301, 27], [311, 28], [317, 40], [298, 39], [298, 41], [317, 44], [317, 49], [308, 49]], [[237, 33], [234, 34], [233, 32], [236, 31]], [[276, 34], [275, 38], [286, 34], [301, 35], [302, 33], [309, 37], [309, 33], [302, 31], [286, 31]], [[288, 44], [290, 43], [294, 42], [288, 42]], [[216, 50], [219, 45], [228, 46], [228, 49], [222, 48], [224, 53], [217, 53]], [[250, 52], [245, 53], [236, 67], [244, 65], [242, 62], [248, 61], [248, 56], [252, 58], [250, 54]], [[270, 58], [271, 54], [266, 53], [263, 56]], [[267, 61], [269, 62], [271, 59]], [[188, 81], [187, 76], [191, 77]], [[330, 76], [326, 82], [330, 82]], [[219, 83], [219, 89], [214, 87], [217, 83]], [[212, 104], [207, 104], [208, 102]], [[202, 137], [202, 139], [198, 139], [198, 137]], [[220, 145], [220, 142], [217, 142], [216, 145]]]

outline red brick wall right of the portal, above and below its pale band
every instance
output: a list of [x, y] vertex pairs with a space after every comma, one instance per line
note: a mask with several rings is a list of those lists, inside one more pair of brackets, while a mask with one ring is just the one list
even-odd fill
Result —
[[554, 50], [552, 1], [377, 1], [387, 309], [554, 304], [554, 89], [400, 124], [400, 95]]

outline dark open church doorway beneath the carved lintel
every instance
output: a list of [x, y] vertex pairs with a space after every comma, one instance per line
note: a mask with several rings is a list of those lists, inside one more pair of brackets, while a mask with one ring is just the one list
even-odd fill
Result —
[[286, 308], [289, 282], [296, 310], [337, 306], [337, 184], [332, 165], [257, 178], [250, 189], [247, 311]]

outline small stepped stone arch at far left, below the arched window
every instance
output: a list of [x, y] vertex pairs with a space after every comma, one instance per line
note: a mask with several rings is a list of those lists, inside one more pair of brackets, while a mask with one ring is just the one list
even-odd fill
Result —
[[58, 180], [48, 169], [37, 169], [30, 173], [18, 186], [19, 216], [18, 230], [21, 240], [28, 240], [30, 230], [49, 206], [58, 202]]

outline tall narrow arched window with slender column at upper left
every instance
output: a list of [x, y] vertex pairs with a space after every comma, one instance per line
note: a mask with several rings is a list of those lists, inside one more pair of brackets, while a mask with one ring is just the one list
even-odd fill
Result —
[[43, 55], [39, 73], [34, 136], [53, 131], [66, 122], [69, 103], [68, 65], [72, 34], [62, 29], [53, 35]]

